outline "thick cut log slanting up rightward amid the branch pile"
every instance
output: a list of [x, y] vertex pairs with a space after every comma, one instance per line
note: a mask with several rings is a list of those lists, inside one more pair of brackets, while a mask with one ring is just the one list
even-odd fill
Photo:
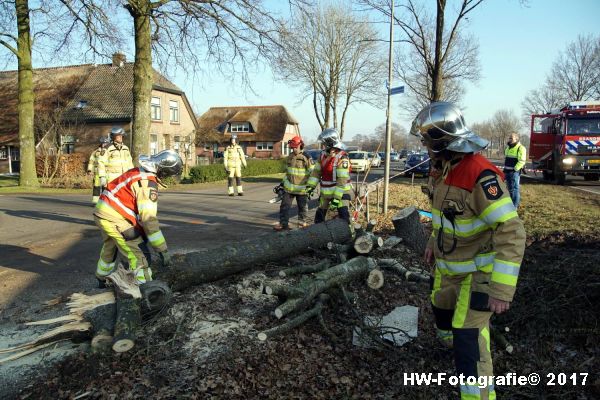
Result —
[[[372, 258], [358, 256], [343, 264], [328, 268], [314, 275], [312, 278], [303, 279], [288, 291], [287, 300], [275, 309], [278, 319], [308, 307], [321, 293], [331, 288], [360, 279], [375, 269], [376, 264]], [[302, 295], [298, 295], [302, 293]]]

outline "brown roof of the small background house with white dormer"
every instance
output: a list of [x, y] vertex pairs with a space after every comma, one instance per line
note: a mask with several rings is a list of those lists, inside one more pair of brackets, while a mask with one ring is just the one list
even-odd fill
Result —
[[250, 134], [239, 134], [239, 141], [269, 142], [282, 140], [288, 124], [298, 124], [282, 105], [211, 107], [198, 118], [197, 142], [228, 140], [230, 135], [225, 130], [231, 122], [250, 123]]

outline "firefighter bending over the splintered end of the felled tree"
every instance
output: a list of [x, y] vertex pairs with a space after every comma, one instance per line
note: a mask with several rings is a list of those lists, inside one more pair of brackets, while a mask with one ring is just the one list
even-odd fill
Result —
[[138, 284], [152, 280], [149, 243], [163, 266], [171, 265], [167, 242], [158, 225], [158, 186], [161, 179], [181, 175], [183, 161], [177, 152], [163, 150], [141, 155], [139, 168], [132, 168], [110, 181], [96, 204], [94, 221], [102, 234], [102, 250], [96, 268], [100, 287], [110, 275], [117, 254], [127, 260]]

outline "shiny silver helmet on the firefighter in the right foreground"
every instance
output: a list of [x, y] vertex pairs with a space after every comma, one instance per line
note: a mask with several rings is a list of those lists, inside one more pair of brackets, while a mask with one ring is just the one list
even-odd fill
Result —
[[434, 102], [423, 108], [412, 123], [411, 135], [432, 152], [443, 150], [474, 153], [485, 149], [489, 142], [472, 132], [465, 124], [460, 109], [452, 103]]

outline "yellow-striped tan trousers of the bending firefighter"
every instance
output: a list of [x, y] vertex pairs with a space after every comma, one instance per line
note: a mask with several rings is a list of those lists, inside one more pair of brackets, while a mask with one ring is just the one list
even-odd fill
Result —
[[94, 221], [102, 234], [96, 277], [104, 279], [110, 275], [116, 268], [117, 255], [121, 254], [127, 260], [129, 269], [136, 271], [138, 283], [151, 281], [150, 251], [142, 235], [126, 220], [115, 222], [94, 216]]

